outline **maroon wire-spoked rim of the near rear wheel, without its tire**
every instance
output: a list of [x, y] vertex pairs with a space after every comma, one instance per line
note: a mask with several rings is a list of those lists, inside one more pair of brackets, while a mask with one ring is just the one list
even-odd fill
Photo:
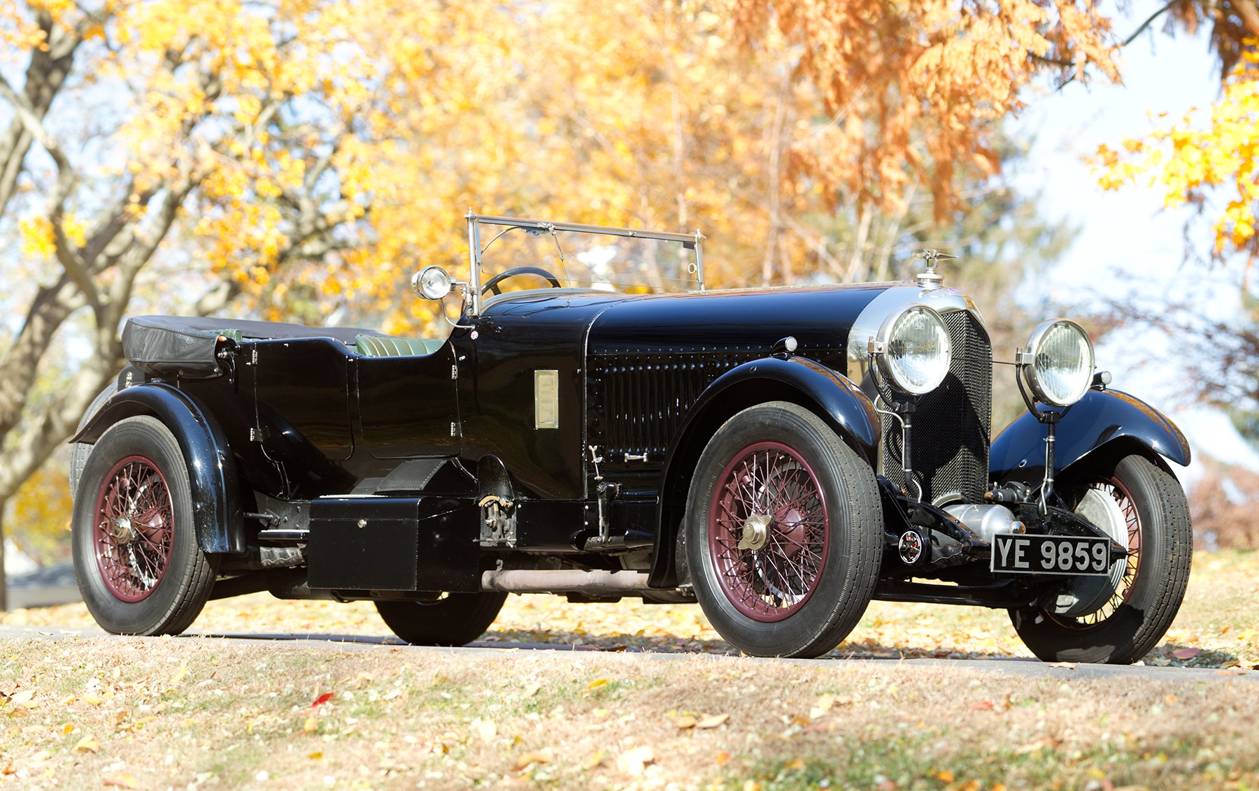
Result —
[[175, 512], [170, 487], [157, 465], [127, 456], [104, 477], [92, 528], [96, 566], [121, 601], [152, 594], [170, 565]]

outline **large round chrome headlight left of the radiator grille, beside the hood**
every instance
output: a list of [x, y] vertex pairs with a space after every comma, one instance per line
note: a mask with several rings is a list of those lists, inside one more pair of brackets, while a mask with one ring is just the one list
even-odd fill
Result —
[[875, 350], [879, 370], [910, 395], [939, 387], [953, 356], [944, 319], [925, 304], [906, 306], [884, 319]]

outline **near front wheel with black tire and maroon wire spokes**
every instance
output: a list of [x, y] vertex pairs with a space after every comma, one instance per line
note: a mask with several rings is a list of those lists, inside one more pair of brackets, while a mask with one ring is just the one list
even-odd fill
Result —
[[821, 656], [856, 626], [879, 572], [874, 472], [794, 404], [728, 420], [700, 456], [686, 555], [704, 614], [754, 656]]

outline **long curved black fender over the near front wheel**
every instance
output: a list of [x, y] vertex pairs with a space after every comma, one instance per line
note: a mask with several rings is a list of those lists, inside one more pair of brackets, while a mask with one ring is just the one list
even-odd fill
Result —
[[677, 536], [704, 446], [723, 423], [765, 401], [791, 401], [813, 410], [867, 464], [875, 463], [879, 415], [870, 399], [847, 377], [805, 357], [764, 357], [726, 371], [695, 401], [670, 444], [661, 475], [651, 587], [679, 584]]

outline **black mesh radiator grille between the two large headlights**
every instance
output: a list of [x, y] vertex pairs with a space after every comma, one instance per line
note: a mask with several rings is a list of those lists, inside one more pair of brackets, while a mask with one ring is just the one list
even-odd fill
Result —
[[[943, 314], [953, 345], [944, 382], [920, 396], [913, 415], [910, 467], [932, 502], [959, 494], [968, 503], [983, 497], [988, 482], [988, 436], [992, 428], [992, 343], [969, 311]], [[893, 394], [883, 394], [885, 401]], [[883, 419], [884, 474], [904, 487], [900, 424]], [[908, 487], [910, 490], [912, 487]]]

